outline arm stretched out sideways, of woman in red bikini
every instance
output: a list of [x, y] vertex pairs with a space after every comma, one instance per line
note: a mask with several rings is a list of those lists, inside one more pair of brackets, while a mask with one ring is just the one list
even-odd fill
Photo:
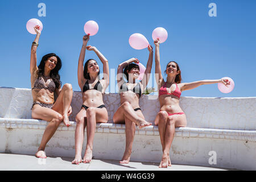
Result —
[[230, 81], [227, 80], [227, 79], [218, 79], [218, 80], [200, 80], [200, 81], [194, 81], [194, 82], [189, 82], [189, 83], [181, 83], [179, 84], [180, 86], [180, 90], [181, 92], [184, 91], [184, 90], [191, 90], [191, 89], [195, 89], [197, 88], [198, 86], [201, 86], [201, 85], [208, 85], [208, 84], [217, 84], [217, 83], [220, 83], [222, 82], [224, 85], [228, 86], [230, 85]]

